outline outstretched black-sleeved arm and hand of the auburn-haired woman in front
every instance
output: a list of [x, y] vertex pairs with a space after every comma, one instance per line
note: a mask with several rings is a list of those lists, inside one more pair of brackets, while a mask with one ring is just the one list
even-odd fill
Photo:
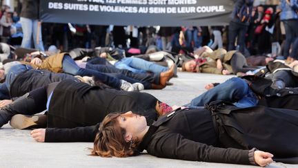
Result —
[[150, 142], [148, 153], [162, 158], [224, 162], [244, 165], [266, 166], [272, 162], [272, 154], [263, 151], [212, 147], [183, 138], [179, 133], [156, 135]]

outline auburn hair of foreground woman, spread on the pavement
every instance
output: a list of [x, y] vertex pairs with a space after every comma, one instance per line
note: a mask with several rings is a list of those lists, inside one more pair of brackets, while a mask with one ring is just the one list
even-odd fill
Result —
[[137, 138], [132, 142], [126, 142], [126, 130], [121, 128], [118, 122], [121, 113], [110, 113], [103, 119], [99, 126], [99, 132], [95, 138], [92, 156], [119, 158], [134, 156], [137, 153]]

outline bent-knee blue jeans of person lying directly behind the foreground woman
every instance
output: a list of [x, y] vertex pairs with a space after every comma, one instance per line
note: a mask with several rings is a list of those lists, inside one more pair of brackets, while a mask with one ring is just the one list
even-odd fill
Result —
[[232, 77], [226, 82], [199, 95], [190, 104], [187, 104], [187, 106], [196, 108], [195, 106], [203, 106], [215, 100], [232, 102], [240, 108], [255, 106], [259, 101], [245, 80], [239, 77]]

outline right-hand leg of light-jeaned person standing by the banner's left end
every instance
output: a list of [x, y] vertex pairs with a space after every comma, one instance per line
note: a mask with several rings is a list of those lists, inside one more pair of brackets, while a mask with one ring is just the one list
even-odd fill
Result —
[[[32, 26], [32, 34], [33, 34], [33, 41], [34, 41], [34, 47], [37, 50], [44, 51], [43, 47], [43, 41], [42, 41], [42, 33], [41, 33], [41, 23], [39, 23], [39, 20], [35, 19], [33, 20], [33, 26]], [[37, 33], [38, 33], [38, 39], [37, 39]]]

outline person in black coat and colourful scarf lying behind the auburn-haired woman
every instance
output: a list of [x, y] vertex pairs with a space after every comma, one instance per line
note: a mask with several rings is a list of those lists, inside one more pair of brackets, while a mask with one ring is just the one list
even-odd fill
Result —
[[[158, 115], [172, 110], [170, 106], [159, 102], [148, 93], [103, 89], [74, 80], [64, 80], [59, 84], [52, 83], [26, 93], [1, 109], [0, 127], [9, 120], [12, 127], [18, 129], [37, 126], [41, 124], [39, 121], [41, 116], [28, 118], [25, 115], [34, 115], [46, 109], [48, 110], [46, 142], [92, 142], [95, 133], [93, 136], [81, 137], [79, 134], [72, 136], [70, 128], [95, 125], [108, 113], [114, 111], [133, 110], [145, 115], [150, 122], [156, 120]], [[51, 128], [66, 129], [66, 131]], [[77, 137], [79, 139], [76, 139]]]

